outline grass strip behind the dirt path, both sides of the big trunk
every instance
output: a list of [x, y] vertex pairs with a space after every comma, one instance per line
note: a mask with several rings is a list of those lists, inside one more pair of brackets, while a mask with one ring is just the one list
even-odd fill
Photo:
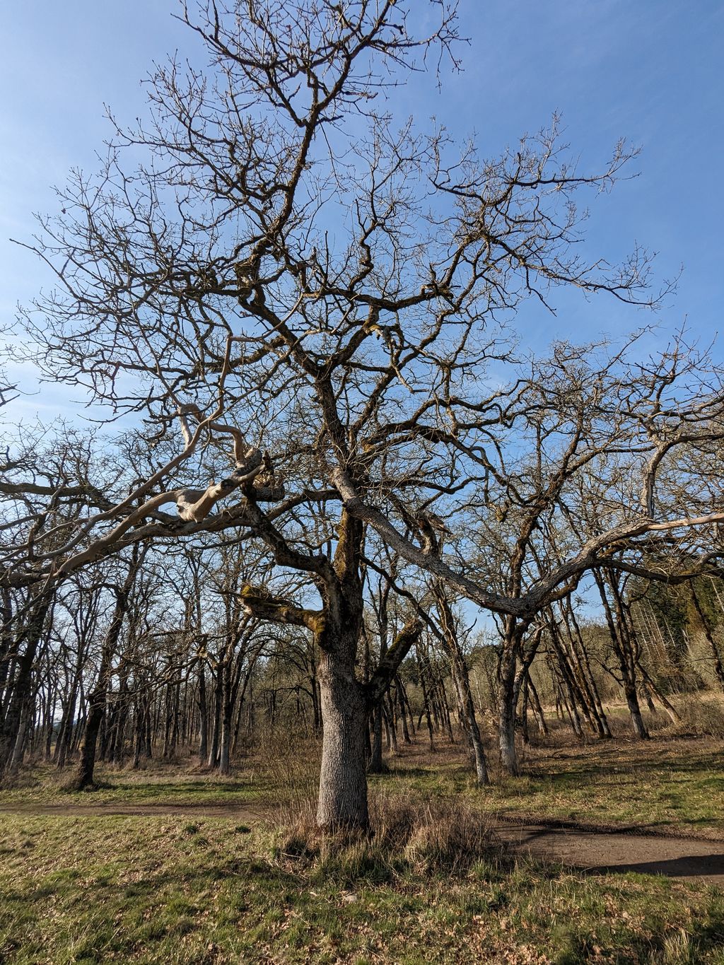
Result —
[[[724, 744], [721, 740], [669, 733], [641, 742], [619, 733], [611, 741], [571, 744], [556, 734], [524, 751], [523, 774], [511, 780], [493, 770], [493, 784], [474, 786], [464, 749], [440, 741], [434, 753], [422, 741], [401, 746], [388, 758], [390, 771], [372, 786], [424, 795], [464, 795], [486, 813], [724, 837]], [[0, 790], [3, 805], [144, 805], [224, 808], [287, 802], [303, 807], [316, 792], [316, 749], [293, 747], [280, 758], [258, 755], [219, 778], [180, 760], [144, 770], [99, 765], [92, 792], [63, 790], [57, 769], [40, 765], [15, 786]]]

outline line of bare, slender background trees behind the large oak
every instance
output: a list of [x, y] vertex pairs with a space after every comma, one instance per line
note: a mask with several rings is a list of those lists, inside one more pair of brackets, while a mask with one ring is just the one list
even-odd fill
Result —
[[[133, 768], [152, 758], [181, 760], [229, 774], [235, 758], [264, 749], [271, 735], [320, 737], [318, 651], [308, 634], [246, 612], [245, 562], [238, 546], [159, 553], [137, 543], [126, 557], [56, 588], [36, 642], [27, 637], [26, 601], [6, 591], [6, 778], [23, 761], [40, 760], [67, 768], [76, 789], [93, 786], [97, 759]], [[551, 717], [580, 739], [606, 739], [604, 704], [625, 700], [633, 733], [645, 739], [643, 708], [660, 708], [679, 726], [683, 695], [724, 692], [718, 578], [662, 590], [600, 567], [591, 590], [600, 593], [605, 620], [582, 619], [580, 598], [559, 600], [522, 640], [508, 686], [505, 621], [476, 632], [474, 616], [442, 583], [419, 587], [414, 597], [396, 592], [403, 578], [399, 561], [365, 572], [362, 680], [411, 606], [425, 623], [368, 715], [368, 773], [382, 771], [384, 755], [405, 745], [424, 742], [433, 751], [462, 739], [486, 786], [496, 725], [501, 760], [515, 775], [521, 742], [531, 730], [547, 736]]]

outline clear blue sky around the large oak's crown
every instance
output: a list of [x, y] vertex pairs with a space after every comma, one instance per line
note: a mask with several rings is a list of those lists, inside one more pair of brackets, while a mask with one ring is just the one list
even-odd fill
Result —
[[[414, 0], [422, 9], [425, 0]], [[419, 6], [418, 6], [419, 5]], [[198, 60], [192, 36], [174, 20], [173, 0], [28, 0], [0, 18], [0, 318], [32, 297], [47, 274], [10, 236], [28, 239], [32, 212], [55, 208], [52, 184], [71, 166], [91, 170], [109, 126], [103, 103], [122, 120], [144, 111], [139, 83], [152, 61], [176, 48]], [[709, 340], [724, 304], [724, 4], [715, 0], [461, 0], [464, 71], [442, 92], [417, 77], [391, 96], [401, 121], [434, 115], [460, 137], [475, 132], [494, 154], [520, 134], [563, 116], [581, 167], [596, 168], [626, 136], [643, 149], [640, 177], [593, 199], [590, 252], [612, 260], [634, 241], [659, 253], [656, 273], [683, 265], [679, 291], [658, 314], [663, 333], [684, 317]], [[553, 318], [531, 306], [522, 341], [623, 336], [652, 321], [611, 299], [555, 298]], [[62, 393], [14, 404], [16, 418], [65, 410]]]

